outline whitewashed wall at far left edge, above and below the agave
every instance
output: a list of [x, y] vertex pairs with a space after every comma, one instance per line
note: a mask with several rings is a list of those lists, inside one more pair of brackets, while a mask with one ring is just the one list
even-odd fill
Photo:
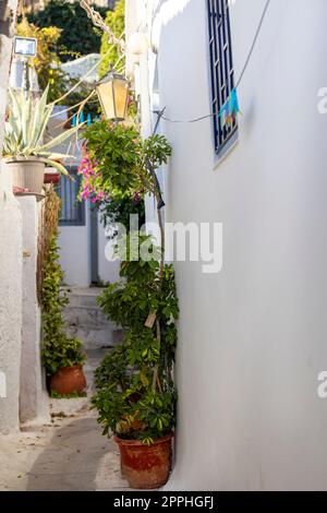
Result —
[[[16, 5], [16, 0], [0, 4], [0, 150]], [[22, 215], [0, 159], [0, 433], [19, 429], [22, 250]]]

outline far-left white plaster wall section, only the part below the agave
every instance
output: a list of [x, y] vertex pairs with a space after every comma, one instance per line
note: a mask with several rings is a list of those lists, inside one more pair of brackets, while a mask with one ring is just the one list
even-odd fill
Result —
[[22, 215], [0, 160], [0, 433], [19, 429], [22, 330]]

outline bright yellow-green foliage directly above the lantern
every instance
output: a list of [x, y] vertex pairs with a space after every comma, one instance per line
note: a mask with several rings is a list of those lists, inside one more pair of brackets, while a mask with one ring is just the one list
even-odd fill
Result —
[[[113, 11], [108, 11], [106, 20], [106, 24], [112, 29], [117, 37], [124, 38], [124, 31], [125, 31], [125, 0], [118, 0]], [[107, 57], [102, 60], [99, 67], [100, 76], [104, 76], [108, 73], [110, 69], [110, 64], [116, 64], [120, 59], [119, 50], [112, 44], [109, 44], [108, 35], [104, 34], [101, 39], [101, 56], [107, 55]], [[118, 69], [124, 67], [124, 57], [121, 59]]]

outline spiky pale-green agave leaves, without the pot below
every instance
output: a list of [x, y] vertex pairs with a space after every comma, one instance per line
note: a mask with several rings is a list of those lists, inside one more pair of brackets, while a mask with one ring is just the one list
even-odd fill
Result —
[[68, 175], [66, 169], [57, 159], [70, 155], [51, 152], [77, 132], [81, 124], [63, 131], [57, 138], [44, 143], [44, 135], [52, 115], [55, 104], [48, 104], [49, 86], [39, 99], [26, 97], [23, 91], [9, 90], [10, 114], [5, 122], [3, 156], [7, 157], [38, 157], [60, 172]]

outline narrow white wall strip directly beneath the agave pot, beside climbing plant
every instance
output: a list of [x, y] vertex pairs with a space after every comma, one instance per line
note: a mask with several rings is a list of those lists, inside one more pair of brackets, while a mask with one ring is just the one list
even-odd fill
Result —
[[40, 361], [40, 308], [36, 270], [41, 203], [35, 196], [20, 196], [23, 216], [23, 326], [20, 387], [22, 422], [49, 420], [49, 399]]

